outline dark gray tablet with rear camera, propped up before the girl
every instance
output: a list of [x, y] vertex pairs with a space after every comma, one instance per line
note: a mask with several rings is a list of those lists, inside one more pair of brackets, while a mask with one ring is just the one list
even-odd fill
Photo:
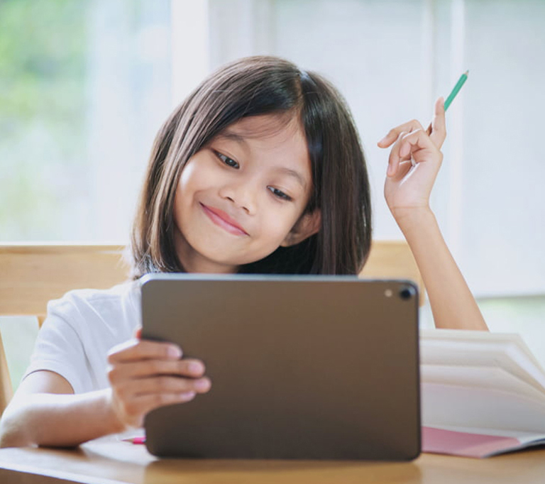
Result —
[[212, 387], [145, 418], [157, 456], [410, 460], [420, 452], [418, 295], [356, 277], [152, 275], [143, 338]]

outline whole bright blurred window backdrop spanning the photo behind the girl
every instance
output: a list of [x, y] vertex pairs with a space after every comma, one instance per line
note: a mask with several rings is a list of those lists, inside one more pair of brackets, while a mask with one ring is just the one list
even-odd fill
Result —
[[343, 92], [368, 156], [375, 237], [401, 238], [376, 141], [427, 123], [469, 69], [432, 205], [487, 307], [534, 295], [543, 308], [544, 23], [541, 0], [4, 0], [0, 238], [127, 241], [172, 106], [253, 54], [287, 57]]

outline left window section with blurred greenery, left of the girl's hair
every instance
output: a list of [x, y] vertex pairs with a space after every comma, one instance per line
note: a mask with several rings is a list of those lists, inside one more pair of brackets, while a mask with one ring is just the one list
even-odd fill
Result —
[[170, 1], [0, 2], [2, 241], [126, 241], [171, 109]]

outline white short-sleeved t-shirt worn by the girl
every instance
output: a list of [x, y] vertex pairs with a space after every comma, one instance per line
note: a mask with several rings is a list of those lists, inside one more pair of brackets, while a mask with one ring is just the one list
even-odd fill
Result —
[[141, 326], [138, 281], [108, 290], [74, 290], [48, 303], [26, 374], [50, 370], [68, 380], [75, 393], [109, 387], [108, 352], [134, 337]]

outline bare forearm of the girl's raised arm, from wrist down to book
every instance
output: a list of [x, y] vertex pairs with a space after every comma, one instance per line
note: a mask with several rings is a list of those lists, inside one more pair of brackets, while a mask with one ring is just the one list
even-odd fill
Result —
[[417, 261], [436, 328], [488, 331], [431, 210], [407, 209], [394, 215]]

